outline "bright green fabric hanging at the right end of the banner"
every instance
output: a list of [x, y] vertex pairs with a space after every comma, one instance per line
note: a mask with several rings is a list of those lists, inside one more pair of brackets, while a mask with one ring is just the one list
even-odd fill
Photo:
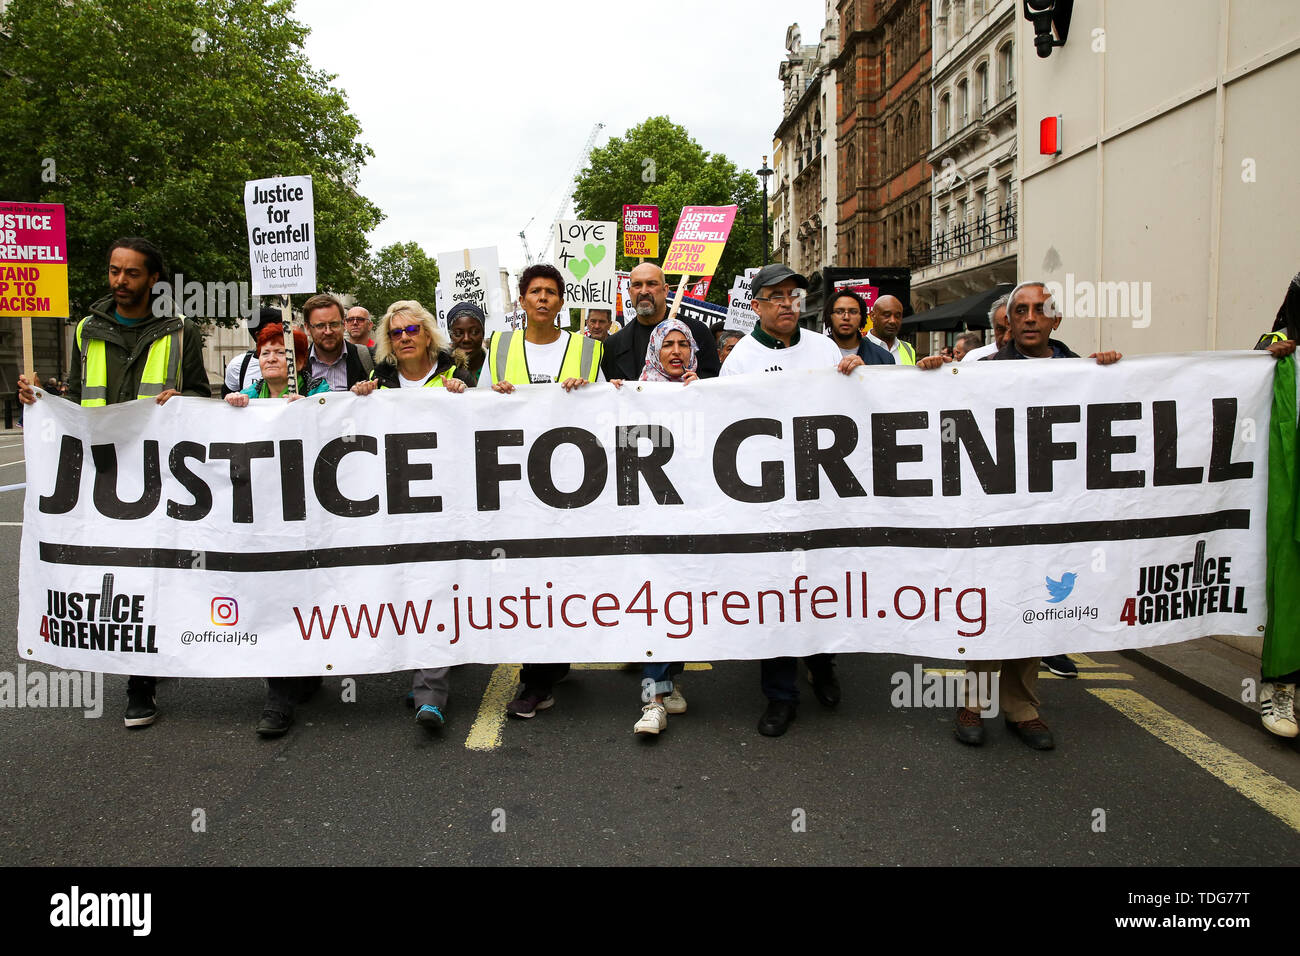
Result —
[[1273, 377], [1269, 420], [1269, 519], [1265, 597], [1269, 623], [1261, 665], [1265, 680], [1300, 670], [1300, 535], [1297, 535], [1296, 368], [1287, 356]]

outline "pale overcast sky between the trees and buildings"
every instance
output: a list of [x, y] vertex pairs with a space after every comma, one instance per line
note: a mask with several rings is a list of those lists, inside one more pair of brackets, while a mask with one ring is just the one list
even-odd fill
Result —
[[[436, 256], [537, 255], [597, 122], [621, 135], [667, 114], [710, 152], [758, 169], [781, 120], [785, 29], [805, 43], [823, 0], [694, 4], [298, 0], [307, 53], [337, 74], [374, 156], [360, 191], [386, 215], [370, 246]], [[594, 10], [599, 10], [595, 13]]]

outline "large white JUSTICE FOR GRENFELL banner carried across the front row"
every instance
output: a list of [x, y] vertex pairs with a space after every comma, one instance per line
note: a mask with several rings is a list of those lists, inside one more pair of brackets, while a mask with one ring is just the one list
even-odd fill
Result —
[[42, 397], [18, 653], [256, 676], [1257, 635], [1273, 368]]

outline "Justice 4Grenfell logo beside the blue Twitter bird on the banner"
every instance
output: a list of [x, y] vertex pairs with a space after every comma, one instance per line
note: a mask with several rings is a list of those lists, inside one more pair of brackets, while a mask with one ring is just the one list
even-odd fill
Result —
[[1206, 558], [1205, 541], [1197, 541], [1190, 561], [1138, 568], [1138, 593], [1124, 600], [1119, 619], [1132, 627], [1248, 610], [1245, 588], [1232, 584], [1231, 555]]

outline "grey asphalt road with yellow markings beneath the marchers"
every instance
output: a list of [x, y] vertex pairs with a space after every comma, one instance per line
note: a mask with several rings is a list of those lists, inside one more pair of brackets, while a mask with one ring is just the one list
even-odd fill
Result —
[[[17, 436], [0, 432], [0, 486], [23, 480]], [[0, 490], [10, 675], [23, 494]], [[949, 708], [894, 708], [892, 675], [914, 665], [896, 656], [841, 657], [841, 706], [805, 684], [780, 739], [755, 730], [744, 661], [688, 672], [689, 711], [653, 739], [632, 734], [640, 675], [621, 669], [575, 670], [554, 709], [507, 723], [493, 702], [507, 671], [460, 667], [438, 735], [402, 705], [406, 675], [356, 678], [355, 702], [328, 678], [274, 741], [254, 734], [257, 680], [165, 680], [159, 721], [127, 731], [126, 678], [108, 675], [98, 719], [0, 709], [0, 864], [1294, 862], [1294, 744], [1118, 654], [1079, 659], [1091, 676], [1041, 682], [1049, 753], [1000, 721], [966, 748]]]

